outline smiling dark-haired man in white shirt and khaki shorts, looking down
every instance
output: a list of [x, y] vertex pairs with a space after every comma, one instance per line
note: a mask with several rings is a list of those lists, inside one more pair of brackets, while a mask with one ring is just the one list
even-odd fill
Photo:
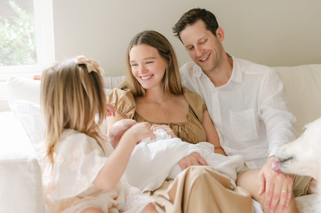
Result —
[[180, 68], [183, 84], [204, 99], [226, 154], [246, 161], [237, 184], [265, 212], [297, 212], [292, 186], [301, 190], [295, 196], [306, 194], [311, 178], [295, 176], [293, 182], [270, 167], [278, 148], [295, 139], [295, 117], [278, 72], [226, 53], [224, 30], [205, 9], [183, 14], [173, 32], [194, 61]]

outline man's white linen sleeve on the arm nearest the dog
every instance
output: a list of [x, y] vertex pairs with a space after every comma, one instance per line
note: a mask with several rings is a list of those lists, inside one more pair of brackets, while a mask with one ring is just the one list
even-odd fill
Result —
[[269, 157], [275, 155], [282, 145], [295, 140], [296, 119], [290, 112], [283, 81], [276, 70], [270, 71], [262, 79], [258, 116], [264, 120], [266, 126]]

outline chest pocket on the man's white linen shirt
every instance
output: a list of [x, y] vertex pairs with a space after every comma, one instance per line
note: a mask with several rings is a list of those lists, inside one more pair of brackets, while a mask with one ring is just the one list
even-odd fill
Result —
[[234, 112], [230, 110], [230, 124], [233, 135], [240, 141], [257, 138], [254, 109]]

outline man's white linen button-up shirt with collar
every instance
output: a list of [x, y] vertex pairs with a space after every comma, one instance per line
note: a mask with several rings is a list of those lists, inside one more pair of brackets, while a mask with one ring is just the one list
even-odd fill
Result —
[[203, 98], [225, 153], [242, 155], [249, 168], [262, 168], [296, 138], [295, 116], [276, 70], [229, 57], [233, 69], [225, 85], [215, 87], [194, 62], [180, 68], [182, 83]]

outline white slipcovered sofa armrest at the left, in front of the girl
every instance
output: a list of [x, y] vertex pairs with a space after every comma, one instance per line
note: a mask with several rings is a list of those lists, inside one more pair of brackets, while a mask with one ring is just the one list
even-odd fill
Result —
[[12, 112], [0, 113], [0, 212], [45, 212], [36, 153]]

